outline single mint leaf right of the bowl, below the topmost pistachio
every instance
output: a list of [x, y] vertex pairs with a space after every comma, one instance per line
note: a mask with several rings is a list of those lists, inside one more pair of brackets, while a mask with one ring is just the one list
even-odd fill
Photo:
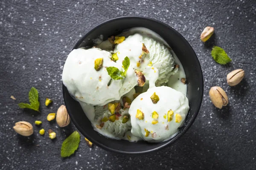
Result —
[[212, 48], [212, 58], [219, 64], [227, 64], [228, 62], [232, 61], [232, 59], [227, 56], [227, 53], [224, 51], [224, 49], [218, 46], [214, 46]]

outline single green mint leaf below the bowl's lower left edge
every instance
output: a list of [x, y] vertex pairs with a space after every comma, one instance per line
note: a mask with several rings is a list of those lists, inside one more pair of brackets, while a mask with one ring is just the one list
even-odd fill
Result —
[[80, 143], [80, 134], [74, 131], [70, 136], [68, 136], [61, 145], [61, 157], [68, 157], [75, 153]]

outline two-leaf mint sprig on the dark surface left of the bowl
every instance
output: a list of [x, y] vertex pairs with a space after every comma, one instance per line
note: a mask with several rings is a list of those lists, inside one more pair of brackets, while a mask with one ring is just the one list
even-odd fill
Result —
[[39, 111], [39, 105], [40, 102], [38, 101], [38, 90], [34, 87], [32, 87], [29, 91], [29, 102], [28, 103], [19, 103], [18, 106], [20, 108], [28, 108], [28, 109], [33, 109], [35, 111]]

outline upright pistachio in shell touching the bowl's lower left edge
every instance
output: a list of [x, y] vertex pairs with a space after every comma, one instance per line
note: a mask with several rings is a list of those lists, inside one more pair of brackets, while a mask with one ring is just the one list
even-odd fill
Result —
[[64, 105], [61, 105], [58, 108], [56, 115], [56, 122], [59, 127], [65, 127], [70, 124], [70, 116], [67, 113], [67, 108]]

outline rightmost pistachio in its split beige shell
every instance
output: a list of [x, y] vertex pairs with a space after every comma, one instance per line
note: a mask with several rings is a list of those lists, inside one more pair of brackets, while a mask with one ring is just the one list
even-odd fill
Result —
[[244, 78], [244, 70], [236, 69], [227, 74], [227, 84], [230, 86], [235, 86]]

